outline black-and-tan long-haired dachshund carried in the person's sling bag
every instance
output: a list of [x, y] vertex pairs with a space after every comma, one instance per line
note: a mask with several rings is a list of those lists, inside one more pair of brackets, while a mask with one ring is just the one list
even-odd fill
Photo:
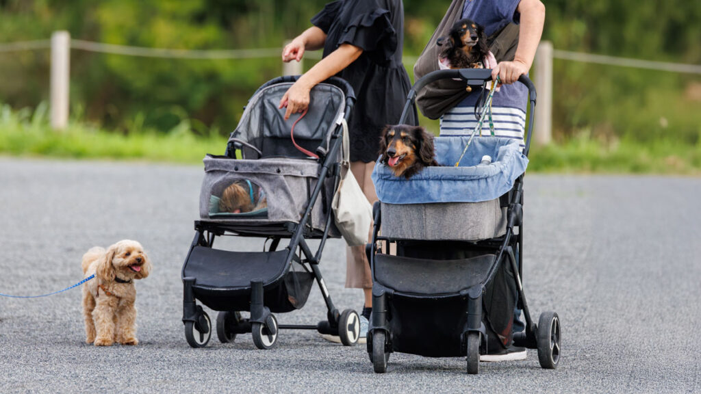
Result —
[[448, 35], [436, 43], [442, 47], [440, 58], [447, 58], [451, 69], [483, 68], [482, 62], [489, 54], [484, 29], [469, 19], [455, 22]]

